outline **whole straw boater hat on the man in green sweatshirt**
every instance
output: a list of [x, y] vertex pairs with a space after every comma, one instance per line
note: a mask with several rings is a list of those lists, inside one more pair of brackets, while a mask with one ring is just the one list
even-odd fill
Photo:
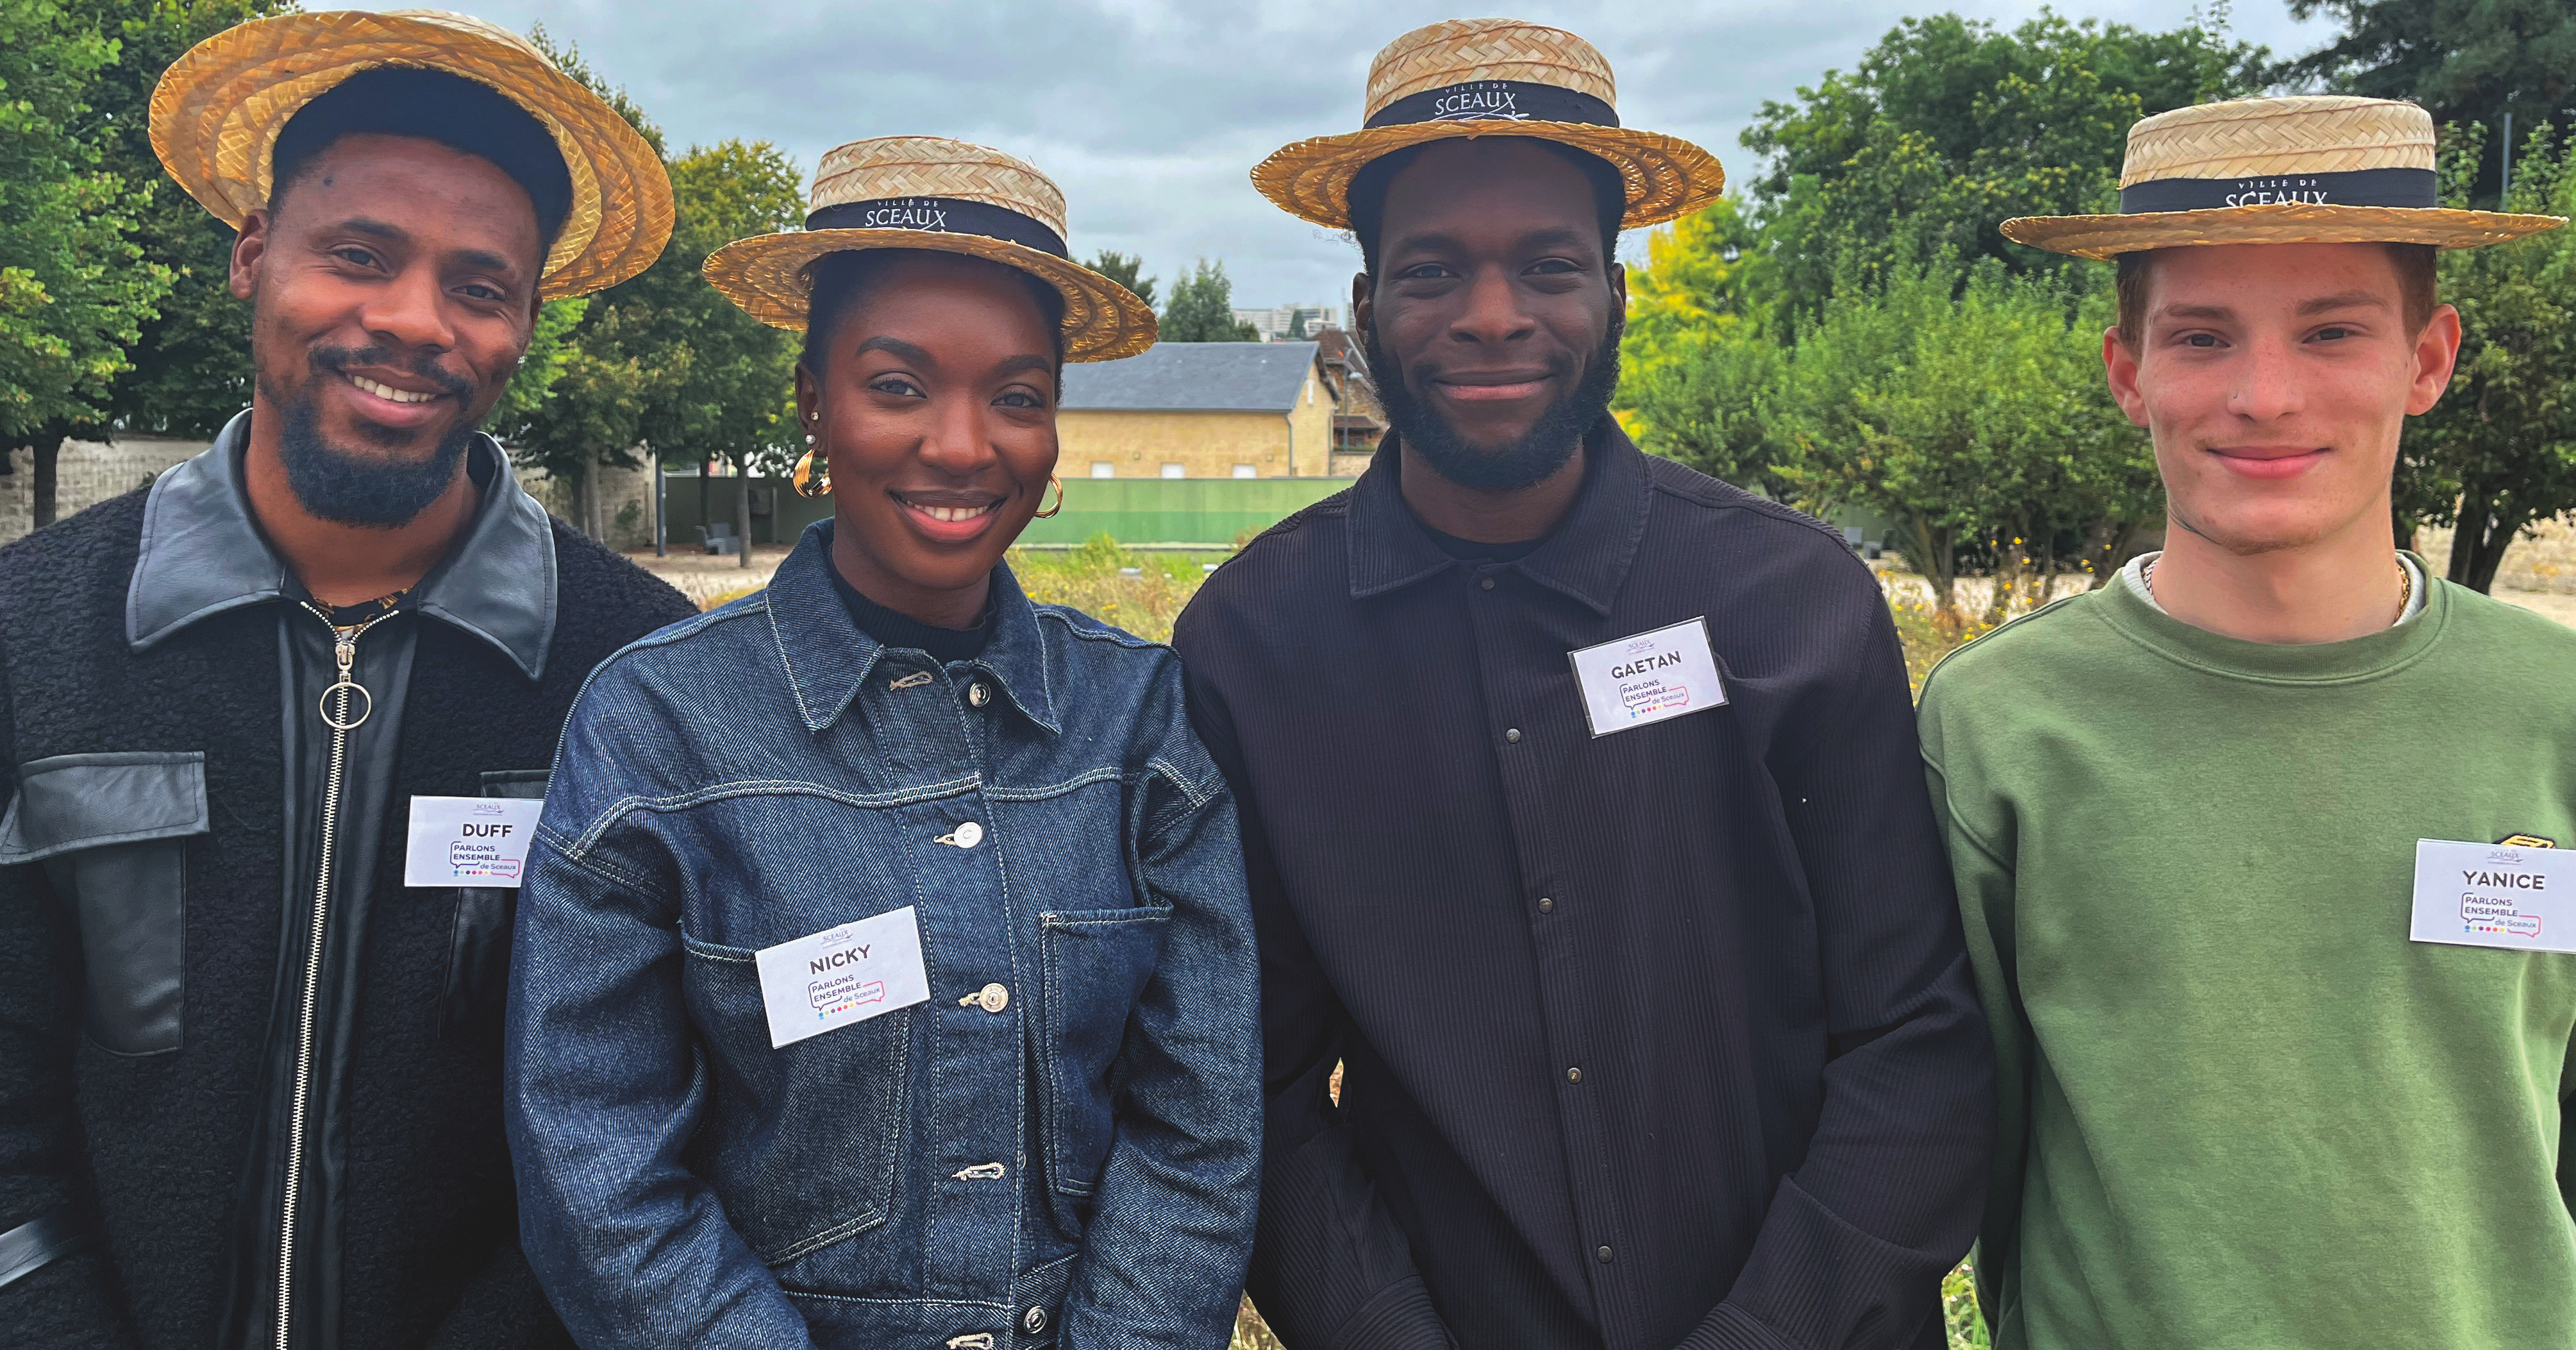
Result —
[[2501, 245], [2558, 216], [2439, 206], [2432, 113], [2385, 98], [2239, 98], [2128, 129], [2117, 216], [2020, 216], [2004, 237], [2110, 260], [2190, 245]]

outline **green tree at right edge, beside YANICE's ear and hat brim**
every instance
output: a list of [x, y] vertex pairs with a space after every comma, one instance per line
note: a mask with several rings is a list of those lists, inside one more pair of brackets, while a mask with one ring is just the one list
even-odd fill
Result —
[[[2452, 204], [2481, 178], [2483, 131], [2447, 137]], [[2506, 206], [2576, 214], [2576, 144], [2535, 126]], [[2555, 229], [2445, 252], [2442, 299], [2460, 309], [2460, 361], [2442, 402], [2406, 428], [2398, 515], [2452, 526], [2450, 580], [2488, 590], [2517, 536], [2576, 513], [2576, 240]]]

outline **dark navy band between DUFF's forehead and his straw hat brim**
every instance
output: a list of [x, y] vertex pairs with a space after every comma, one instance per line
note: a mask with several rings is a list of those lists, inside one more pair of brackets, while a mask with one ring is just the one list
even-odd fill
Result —
[[340, 137], [417, 137], [489, 160], [536, 206], [541, 252], [554, 247], [572, 214], [572, 170], [536, 113], [479, 80], [404, 64], [361, 70], [286, 119], [268, 155], [270, 211]]

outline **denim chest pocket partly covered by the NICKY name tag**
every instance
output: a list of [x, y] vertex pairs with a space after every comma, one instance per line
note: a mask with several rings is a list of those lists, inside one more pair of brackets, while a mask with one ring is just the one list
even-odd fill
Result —
[[708, 1100], [683, 1159], [768, 1265], [858, 1237], [894, 1208], [912, 1010], [770, 1049], [750, 948], [680, 938]]

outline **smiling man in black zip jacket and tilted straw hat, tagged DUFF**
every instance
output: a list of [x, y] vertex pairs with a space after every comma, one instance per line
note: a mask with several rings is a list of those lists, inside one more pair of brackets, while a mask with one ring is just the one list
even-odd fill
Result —
[[688, 613], [477, 423], [670, 180], [513, 33], [242, 23], [152, 95], [240, 229], [252, 407], [0, 551], [0, 1340], [564, 1345], [500, 1128], [572, 696]]

